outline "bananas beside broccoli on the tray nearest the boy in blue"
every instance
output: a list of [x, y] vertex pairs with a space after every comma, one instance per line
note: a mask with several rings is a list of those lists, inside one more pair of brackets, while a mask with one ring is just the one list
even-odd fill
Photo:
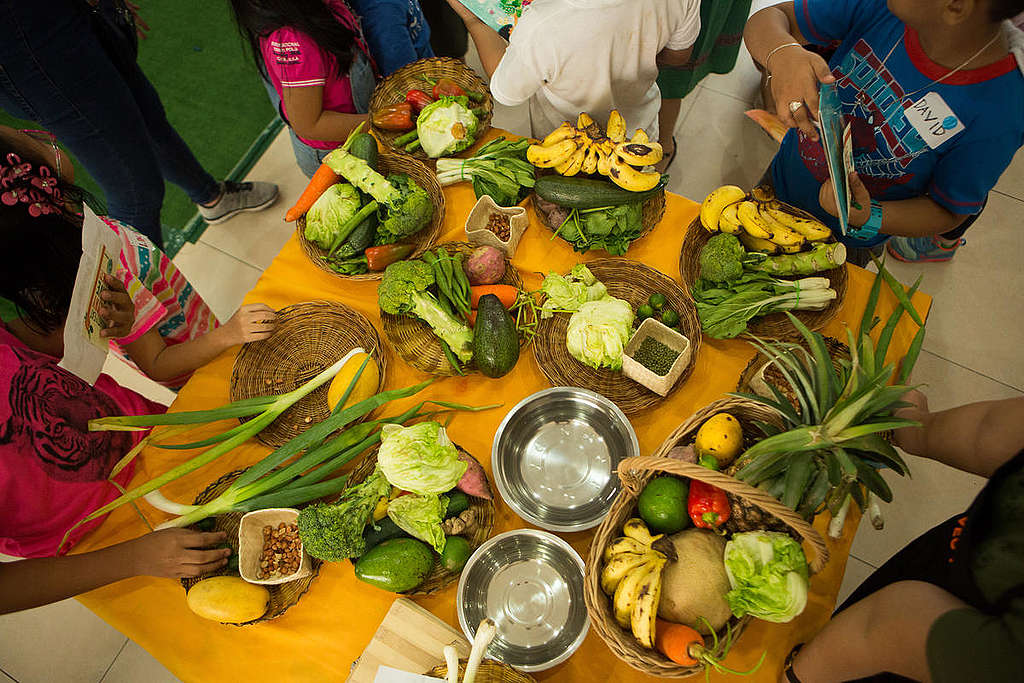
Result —
[[795, 254], [808, 243], [824, 242], [831, 230], [816, 218], [782, 204], [764, 187], [748, 197], [736, 185], [722, 185], [700, 205], [700, 224], [709, 232], [730, 232], [751, 251]]

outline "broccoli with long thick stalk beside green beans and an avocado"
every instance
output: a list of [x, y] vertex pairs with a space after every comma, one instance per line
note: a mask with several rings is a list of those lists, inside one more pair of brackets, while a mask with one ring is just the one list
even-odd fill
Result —
[[469, 362], [473, 357], [473, 331], [440, 307], [427, 291], [433, 284], [433, 269], [427, 263], [418, 259], [392, 263], [377, 288], [377, 303], [385, 313], [420, 318], [460, 360]]

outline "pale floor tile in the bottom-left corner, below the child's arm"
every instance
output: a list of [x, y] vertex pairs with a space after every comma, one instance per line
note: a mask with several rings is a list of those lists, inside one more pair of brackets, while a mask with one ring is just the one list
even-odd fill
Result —
[[0, 616], [0, 668], [19, 683], [95, 683], [126, 640], [77, 601], [63, 600]]

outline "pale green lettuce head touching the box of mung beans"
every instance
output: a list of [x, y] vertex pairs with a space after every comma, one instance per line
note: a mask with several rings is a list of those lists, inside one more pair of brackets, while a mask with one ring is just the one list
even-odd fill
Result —
[[565, 347], [572, 357], [591, 368], [623, 367], [623, 349], [633, 334], [633, 307], [607, 296], [587, 301], [569, 317]]

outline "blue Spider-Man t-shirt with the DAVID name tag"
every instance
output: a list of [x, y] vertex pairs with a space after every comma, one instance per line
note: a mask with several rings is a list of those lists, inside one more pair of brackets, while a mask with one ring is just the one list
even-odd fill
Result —
[[[933, 83], [949, 70], [928, 57], [918, 33], [885, 0], [796, 0], [795, 10], [809, 41], [841, 41], [828, 66], [851, 126], [854, 166], [871, 197], [924, 195], [954, 214], [980, 211], [1024, 143], [1024, 76], [1013, 55]], [[934, 150], [904, 116], [929, 93], [937, 93], [964, 125]], [[837, 219], [818, 203], [827, 178], [821, 143], [790, 130], [772, 162], [776, 195], [837, 229]], [[886, 239], [844, 242], [864, 247]]]

